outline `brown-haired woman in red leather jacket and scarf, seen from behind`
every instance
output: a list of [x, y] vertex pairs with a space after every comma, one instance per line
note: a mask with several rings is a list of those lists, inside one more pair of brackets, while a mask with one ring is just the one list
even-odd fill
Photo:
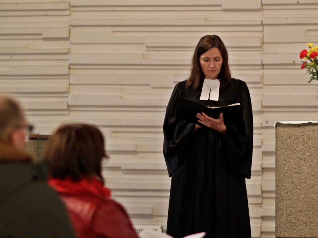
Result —
[[96, 126], [60, 126], [43, 153], [50, 165], [48, 183], [65, 202], [79, 238], [138, 238], [124, 207], [103, 186], [105, 157], [104, 137]]

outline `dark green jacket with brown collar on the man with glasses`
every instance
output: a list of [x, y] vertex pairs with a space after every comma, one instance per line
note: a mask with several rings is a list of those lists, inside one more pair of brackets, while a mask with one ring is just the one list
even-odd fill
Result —
[[47, 186], [47, 167], [0, 141], [0, 237], [75, 238], [64, 203]]

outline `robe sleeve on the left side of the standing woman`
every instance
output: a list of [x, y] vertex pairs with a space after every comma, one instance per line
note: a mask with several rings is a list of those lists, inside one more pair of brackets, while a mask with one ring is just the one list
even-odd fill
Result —
[[184, 81], [176, 84], [166, 109], [163, 122], [163, 155], [166, 160], [169, 177], [186, 158], [187, 148], [194, 134], [195, 124], [176, 118], [176, 99], [184, 97]]

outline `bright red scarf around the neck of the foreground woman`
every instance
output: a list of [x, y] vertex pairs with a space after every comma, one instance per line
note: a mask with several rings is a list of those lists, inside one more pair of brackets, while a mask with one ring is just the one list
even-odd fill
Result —
[[104, 185], [96, 178], [88, 180], [88, 178], [84, 177], [80, 181], [73, 182], [70, 177], [65, 179], [51, 177], [48, 179], [47, 183], [55, 188], [60, 194], [77, 195], [92, 193], [104, 197], [110, 197], [111, 195], [110, 189], [104, 187]]

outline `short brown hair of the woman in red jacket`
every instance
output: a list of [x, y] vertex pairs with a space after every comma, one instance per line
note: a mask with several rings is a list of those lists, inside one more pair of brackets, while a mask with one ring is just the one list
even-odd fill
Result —
[[59, 126], [43, 152], [53, 178], [70, 176], [73, 181], [79, 181], [83, 176], [97, 176], [103, 182], [101, 161], [105, 157], [101, 131], [96, 126], [80, 123]]

